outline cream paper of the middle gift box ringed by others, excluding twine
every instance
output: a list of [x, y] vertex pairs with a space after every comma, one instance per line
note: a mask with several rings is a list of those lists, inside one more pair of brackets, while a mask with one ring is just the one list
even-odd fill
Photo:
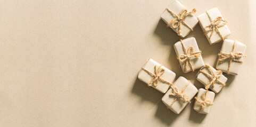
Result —
[[[194, 51], [200, 51], [199, 47], [197, 46], [195, 38], [193, 38], [193, 37], [187, 38], [187, 39], [182, 40], [182, 42], [183, 42], [186, 50], [188, 50], [189, 47], [193, 47]], [[187, 51], [184, 50], [180, 41], [178, 41], [177, 43], [174, 44], [174, 49], [175, 49], [177, 57], [180, 55], [186, 55]], [[185, 70], [185, 64], [183, 62], [181, 62], [180, 59], [178, 59], [178, 60], [179, 60], [179, 63], [180, 63], [180, 66], [181, 66], [181, 69], [183, 70], [183, 72], [187, 73], [187, 72], [192, 71], [192, 68], [189, 67], [188, 65], [187, 65], [187, 70]], [[199, 69], [204, 66], [204, 62], [203, 62], [201, 53], [200, 53], [200, 57], [191, 58], [191, 64], [192, 64], [192, 67], [194, 68], [194, 70]]]

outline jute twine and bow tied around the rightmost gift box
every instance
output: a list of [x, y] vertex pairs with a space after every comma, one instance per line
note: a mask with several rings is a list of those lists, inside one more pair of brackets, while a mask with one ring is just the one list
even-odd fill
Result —
[[229, 59], [227, 74], [229, 74], [229, 69], [230, 69], [232, 61], [240, 62], [242, 64], [243, 61], [240, 60], [240, 58], [247, 57], [246, 55], [243, 55], [242, 52], [235, 52], [235, 47], [236, 47], [236, 40], [234, 41], [233, 48], [232, 48], [232, 51], [230, 53], [226, 53], [226, 52], [221, 51], [218, 54], [218, 56], [219, 56], [218, 62], [220, 62], [220, 63], [223, 62], [226, 59]]

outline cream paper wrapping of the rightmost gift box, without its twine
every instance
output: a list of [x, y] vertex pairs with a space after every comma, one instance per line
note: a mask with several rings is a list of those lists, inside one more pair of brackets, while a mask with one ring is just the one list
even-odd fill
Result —
[[[222, 47], [220, 51], [226, 52], [226, 53], [232, 52], [234, 42], [235, 42], [234, 40], [225, 39], [224, 42], [222, 43]], [[234, 52], [242, 52], [244, 55], [245, 50], [246, 50], [246, 45], [239, 41], [236, 41]], [[240, 58], [240, 60], [243, 60], [243, 57]], [[229, 67], [229, 62], [230, 62], [230, 59], [226, 59], [223, 62], [218, 61], [216, 65], [216, 69], [221, 70], [223, 72], [227, 72]], [[238, 75], [238, 71], [240, 69], [241, 64], [242, 64], [241, 62], [232, 61], [229, 68], [229, 74]]]

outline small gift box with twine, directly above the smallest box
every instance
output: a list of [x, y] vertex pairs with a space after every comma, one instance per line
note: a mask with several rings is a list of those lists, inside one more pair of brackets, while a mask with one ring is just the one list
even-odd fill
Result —
[[219, 93], [227, 82], [227, 78], [222, 75], [222, 71], [216, 70], [208, 64], [205, 64], [199, 70], [196, 79], [204, 85], [205, 89], [210, 88], [215, 93]]

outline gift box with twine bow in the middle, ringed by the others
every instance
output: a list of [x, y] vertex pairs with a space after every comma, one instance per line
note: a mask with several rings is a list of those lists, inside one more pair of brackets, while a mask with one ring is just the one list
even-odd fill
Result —
[[201, 51], [199, 50], [195, 38], [180, 40], [174, 44], [181, 69], [187, 73], [204, 66]]

